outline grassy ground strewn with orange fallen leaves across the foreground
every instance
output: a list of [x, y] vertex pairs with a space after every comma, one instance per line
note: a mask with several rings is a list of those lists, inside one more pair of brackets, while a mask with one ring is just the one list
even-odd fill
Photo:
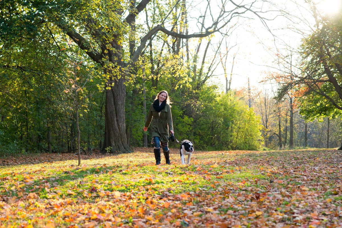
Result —
[[[191, 165], [40, 154], [0, 163], [0, 227], [338, 226], [336, 150], [195, 151]], [[162, 162], [165, 162], [162, 159]], [[331, 181], [331, 180], [334, 181]]]

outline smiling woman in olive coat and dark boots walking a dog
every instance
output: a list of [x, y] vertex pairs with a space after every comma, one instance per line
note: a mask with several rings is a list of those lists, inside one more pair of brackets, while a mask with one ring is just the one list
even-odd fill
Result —
[[169, 131], [173, 134], [170, 98], [168, 92], [160, 91], [151, 104], [148, 117], [144, 126], [147, 131], [152, 122], [152, 143], [154, 143], [154, 157], [156, 165], [160, 164], [160, 146], [164, 152], [166, 164], [170, 164], [170, 149], [168, 148]]

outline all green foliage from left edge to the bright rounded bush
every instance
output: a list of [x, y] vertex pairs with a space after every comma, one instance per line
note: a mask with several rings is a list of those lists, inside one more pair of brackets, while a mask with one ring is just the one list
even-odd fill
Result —
[[[174, 2], [156, 1], [147, 6], [148, 13], [153, 12], [152, 27], [163, 20]], [[192, 140], [198, 149], [259, 147], [260, 123], [254, 112], [236, 97], [219, 94], [216, 86], [209, 85], [205, 67], [198, 66], [200, 73], [196, 75], [194, 64], [189, 59], [183, 62], [184, 53], [166, 47], [168, 43], [176, 43], [175, 38], [164, 33], [154, 38], [157, 44], [163, 43], [163, 48], [151, 48], [145, 61], [145, 78], [138, 67], [142, 62], [132, 67], [136, 70], [122, 73], [118, 63], [129, 62], [128, 42], [146, 33], [145, 25], [137, 25], [134, 34], [124, 21], [122, 12], [129, 11], [129, 5], [130, 2], [117, 0], [0, 1], [2, 155], [47, 151], [49, 143], [54, 152], [75, 148], [75, 99], [70, 96], [74, 91], [70, 80], [75, 76], [70, 72], [73, 66], [70, 57], [75, 53], [82, 60], [76, 62], [77, 86], [82, 87], [78, 100], [81, 147], [102, 147], [105, 93], [101, 91], [115, 83], [115, 80], [106, 83], [110, 73], [118, 76], [116, 79], [121, 75], [127, 77], [126, 94], [122, 95], [126, 95], [126, 132], [131, 146], [143, 144], [142, 88], [145, 87], [147, 108], [158, 91], [170, 92], [177, 139]], [[88, 50], [79, 52], [76, 39], [70, 40], [65, 31], [86, 38], [82, 44]], [[88, 55], [96, 49], [102, 50], [103, 55], [94, 61]]]

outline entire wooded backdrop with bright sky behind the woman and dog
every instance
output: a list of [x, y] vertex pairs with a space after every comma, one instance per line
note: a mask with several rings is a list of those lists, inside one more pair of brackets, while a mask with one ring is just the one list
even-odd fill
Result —
[[[142, 128], [161, 90], [176, 138], [196, 149], [341, 146], [342, 17], [319, 2], [3, 0], [0, 9], [1, 156], [150, 146]], [[272, 64], [263, 85], [233, 89], [241, 31]]]

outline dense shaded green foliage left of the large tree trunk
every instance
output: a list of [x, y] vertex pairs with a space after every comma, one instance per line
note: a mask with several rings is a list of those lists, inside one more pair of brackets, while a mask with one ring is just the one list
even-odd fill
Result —
[[[1, 155], [47, 151], [49, 131], [52, 151], [70, 150], [75, 146], [75, 115], [71, 109], [73, 100], [63, 91], [67, 89], [65, 83], [69, 81], [67, 73], [70, 74], [64, 59], [76, 49], [75, 45], [64, 40], [62, 43], [69, 48], [61, 52], [49, 29], [56, 28], [44, 25], [35, 30], [44, 42], [13, 34], [7, 34], [7, 38], [11, 39], [0, 41]], [[79, 65], [78, 77], [85, 88], [79, 92], [80, 98], [87, 104], [82, 103], [80, 115], [87, 115], [88, 111], [92, 114], [80, 121], [81, 130], [85, 129], [87, 133], [81, 139], [82, 147], [95, 147], [103, 140], [104, 105], [96, 86], [102, 84], [102, 79], [98, 77], [101, 75], [98, 67], [91, 64], [86, 55], [82, 55], [82, 59], [84, 63]], [[87, 97], [90, 94], [95, 94], [94, 99]]]

